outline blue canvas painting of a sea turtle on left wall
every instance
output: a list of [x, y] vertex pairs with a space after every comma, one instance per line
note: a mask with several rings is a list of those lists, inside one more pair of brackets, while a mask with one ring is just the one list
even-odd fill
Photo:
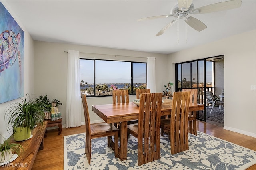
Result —
[[0, 103], [24, 95], [24, 31], [0, 2]]

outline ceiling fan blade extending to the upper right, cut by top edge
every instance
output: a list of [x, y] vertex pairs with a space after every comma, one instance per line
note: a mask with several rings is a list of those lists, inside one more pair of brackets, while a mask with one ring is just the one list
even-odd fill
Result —
[[200, 8], [196, 8], [193, 10], [193, 14], [205, 14], [210, 12], [231, 10], [234, 8], [239, 8], [242, 4], [242, 0], [230, 0], [225, 2], [219, 2], [216, 4], [210, 4], [206, 6], [202, 6]]

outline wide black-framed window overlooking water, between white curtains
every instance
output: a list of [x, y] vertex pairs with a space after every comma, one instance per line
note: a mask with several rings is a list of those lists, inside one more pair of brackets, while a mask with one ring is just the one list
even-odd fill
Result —
[[80, 59], [80, 86], [86, 96], [112, 96], [113, 89], [146, 88], [146, 63]]

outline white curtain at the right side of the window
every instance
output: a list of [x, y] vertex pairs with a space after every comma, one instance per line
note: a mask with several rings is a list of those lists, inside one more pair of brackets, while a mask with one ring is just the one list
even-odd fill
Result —
[[151, 93], [156, 93], [156, 59], [154, 57], [147, 59], [147, 88]]

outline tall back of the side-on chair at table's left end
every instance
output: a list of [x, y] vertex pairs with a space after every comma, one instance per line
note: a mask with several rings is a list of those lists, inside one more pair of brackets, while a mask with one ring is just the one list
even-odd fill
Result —
[[[82, 103], [84, 107], [84, 119], [85, 119], [85, 154], [86, 157], [88, 158], [88, 162], [91, 158], [91, 125], [90, 125], [90, 117], [89, 117], [89, 111], [88, 111], [88, 106], [87, 106], [87, 101], [86, 101], [86, 95], [84, 93], [81, 93], [82, 97]], [[89, 162], [90, 164], [90, 162]]]

